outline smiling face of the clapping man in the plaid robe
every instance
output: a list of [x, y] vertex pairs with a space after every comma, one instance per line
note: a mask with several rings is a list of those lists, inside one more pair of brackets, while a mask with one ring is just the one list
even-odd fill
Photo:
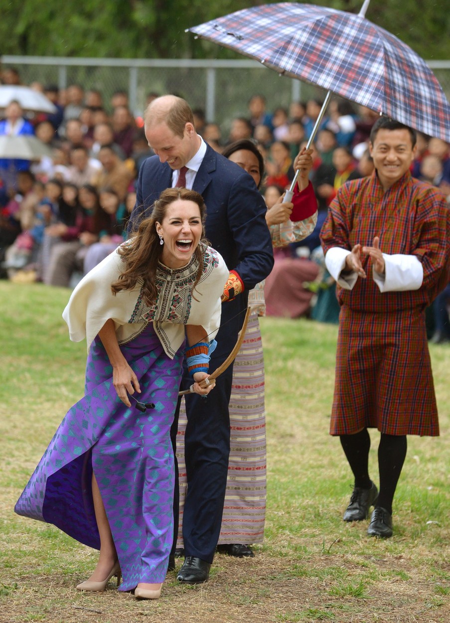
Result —
[[406, 129], [380, 129], [369, 145], [370, 155], [383, 189], [388, 190], [408, 171], [416, 154]]

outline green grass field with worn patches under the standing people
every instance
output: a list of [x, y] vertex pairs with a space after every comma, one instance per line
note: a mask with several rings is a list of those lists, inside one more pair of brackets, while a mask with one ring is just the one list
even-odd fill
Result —
[[[432, 346], [441, 437], [408, 438], [390, 540], [342, 513], [352, 478], [328, 435], [337, 328], [263, 318], [268, 498], [254, 559], [219, 555], [201, 586], [138, 602], [113, 584], [75, 591], [97, 553], [57, 528], [14, 515], [22, 488], [84, 388], [85, 343], [61, 318], [68, 290], [0, 282], [0, 623], [450, 621], [450, 348]], [[371, 475], [378, 482], [371, 433]], [[179, 563], [180, 564], [180, 563]]]

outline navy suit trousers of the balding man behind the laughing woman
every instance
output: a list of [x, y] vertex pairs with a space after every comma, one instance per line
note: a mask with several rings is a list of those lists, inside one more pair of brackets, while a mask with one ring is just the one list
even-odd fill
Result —
[[[242, 303], [245, 305], [242, 306]], [[211, 356], [210, 373], [225, 361], [236, 344], [245, 309], [246, 298], [244, 297], [240, 301], [236, 300], [222, 305], [221, 328], [216, 336], [218, 346]], [[242, 313], [239, 313], [240, 310]], [[186, 369], [181, 388], [188, 389], [192, 383], [192, 378], [188, 376]], [[216, 387], [209, 392], [208, 397], [202, 398], [198, 394], [189, 394], [185, 397], [188, 423], [184, 435], [187, 477], [183, 514], [184, 554], [197, 556], [207, 563], [213, 562], [222, 523], [230, 449], [228, 404], [231, 396], [231, 383], [232, 364], [219, 376]], [[171, 429], [174, 449], [176, 448], [179, 412], [180, 401]], [[178, 537], [177, 464], [175, 474], [173, 549], [175, 549]]]

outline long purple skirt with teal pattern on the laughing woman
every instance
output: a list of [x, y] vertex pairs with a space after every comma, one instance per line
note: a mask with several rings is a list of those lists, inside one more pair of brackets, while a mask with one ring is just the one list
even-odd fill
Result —
[[141, 413], [118, 398], [101, 341], [93, 342], [85, 396], [64, 417], [15, 511], [53, 523], [80, 543], [100, 549], [92, 500], [92, 470], [122, 569], [122, 591], [165, 579], [173, 541], [175, 482], [170, 427], [183, 364], [183, 348], [168, 358], [149, 324], [122, 346], [139, 379]]

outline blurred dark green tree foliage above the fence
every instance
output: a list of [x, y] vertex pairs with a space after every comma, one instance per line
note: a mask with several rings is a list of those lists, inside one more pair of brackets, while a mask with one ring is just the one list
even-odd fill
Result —
[[[0, 0], [2, 54], [236, 58], [184, 30], [263, 0]], [[362, 0], [315, 0], [358, 12]], [[425, 59], [448, 59], [450, 12], [440, 0], [371, 0], [366, 17]]]

